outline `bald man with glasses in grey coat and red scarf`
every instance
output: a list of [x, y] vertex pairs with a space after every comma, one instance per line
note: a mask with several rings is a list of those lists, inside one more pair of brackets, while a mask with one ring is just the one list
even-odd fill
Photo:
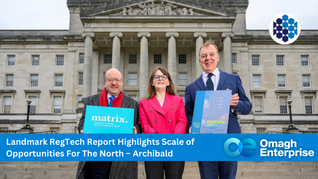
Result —
[[[134, 133], [142, 133], [139, 121], [138, 102], [122, 92], [122, 74], [115, 68], [106, 72], [106, 87], [100, 94], [86, 97], [82, 117], [79, 121], [79, 133], [83, 133], [86, 105], [108, 106], [135, 109]], [[137, 161], [79, 161], [76, 179], [137, 179]]]

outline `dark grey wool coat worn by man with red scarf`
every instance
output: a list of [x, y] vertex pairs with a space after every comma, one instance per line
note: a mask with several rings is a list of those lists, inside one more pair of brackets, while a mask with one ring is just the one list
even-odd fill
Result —
[[[79, 125], [77, 127], [79, 133], [84, 127], [86, 105], [99, 106], [99, 102], [100, 102], [100, 94], [86, 97], [82, 117], [80, 118]], [[135, 109], [134, 126], [137, 129], [137, 133], [142, 133], [141, 128], [138, 124], [138, 121], [139, 121], [138, 102], [123, 93], [121, 107]], [[76, 173], [76, 179], [85, 179], [84, 177], [85, 163], [86, 161], [79, 161], [79, 166], [77, 168], [77, 173]], [[110, 169], [109, 179], [137, 179], [137, 178], [138, 178], [137, 161], [113, 161], [112, 167]]]

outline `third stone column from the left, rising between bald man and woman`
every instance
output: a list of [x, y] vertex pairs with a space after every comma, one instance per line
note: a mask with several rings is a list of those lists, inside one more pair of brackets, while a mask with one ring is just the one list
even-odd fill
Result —
[[140, 75], [139, 75], [139, 99], [146, 97], [149, 79], [148, 38], [149, 32], [139, 32], [140, 37]]

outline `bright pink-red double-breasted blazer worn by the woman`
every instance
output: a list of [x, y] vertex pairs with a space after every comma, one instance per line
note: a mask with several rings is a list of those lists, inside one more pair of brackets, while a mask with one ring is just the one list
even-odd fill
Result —
[[139, 101], [139, 125], [143, 133], [185, 133], [187, 122], [182, 97], [166, 92], [162, 107], [155, 96]]

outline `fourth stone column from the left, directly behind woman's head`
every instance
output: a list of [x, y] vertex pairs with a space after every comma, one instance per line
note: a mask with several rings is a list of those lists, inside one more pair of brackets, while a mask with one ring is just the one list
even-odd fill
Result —
[[175, 85], [175, 91], [177, 86], [176, 37], [178, 36], [178, 32], [166, 33], [166, 37], [168, 37], [168, 71], [170, 73], [171, 80]]

